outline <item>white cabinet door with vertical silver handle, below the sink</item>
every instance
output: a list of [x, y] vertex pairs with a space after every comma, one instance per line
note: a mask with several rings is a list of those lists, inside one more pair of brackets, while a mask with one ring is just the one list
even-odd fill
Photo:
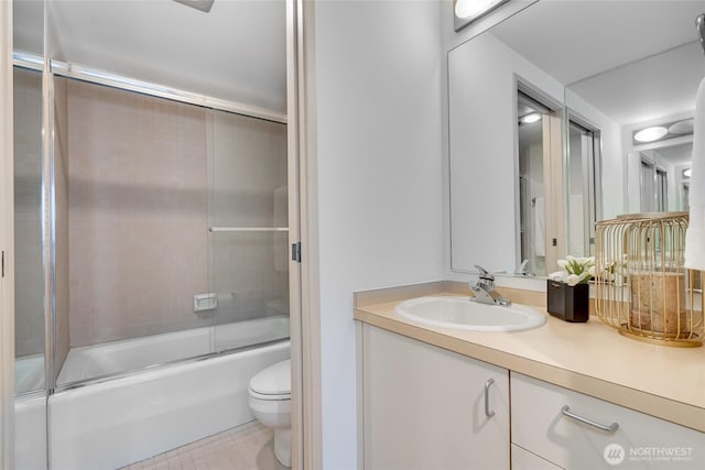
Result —
[[509, 469], [507, 370], [369, 325], [362, 331], [367, 470]]

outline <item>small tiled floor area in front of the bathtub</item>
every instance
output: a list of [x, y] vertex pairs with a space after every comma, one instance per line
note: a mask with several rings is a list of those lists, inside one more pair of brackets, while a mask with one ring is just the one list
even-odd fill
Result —
[[274, 458], [274, 435], [258, 422], [226, 430], [122, 470], [288, 470]]

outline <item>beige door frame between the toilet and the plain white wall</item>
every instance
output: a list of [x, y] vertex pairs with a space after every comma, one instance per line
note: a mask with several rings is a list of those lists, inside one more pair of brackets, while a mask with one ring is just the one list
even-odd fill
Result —
[[292, 359], [292, 467], [322, 464], [321, 303], [315, 106], [315, 3], [286, 2], [290, 242], [301, 263], [290, 263]]

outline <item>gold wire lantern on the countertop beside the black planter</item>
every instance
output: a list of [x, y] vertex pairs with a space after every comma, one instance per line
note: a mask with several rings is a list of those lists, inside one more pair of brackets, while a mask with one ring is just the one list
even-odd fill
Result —
[[630, 338], [703, 343], [703, 273], [683, 267], [687, 212], [620, 216], [597, 223], [595, 310]]

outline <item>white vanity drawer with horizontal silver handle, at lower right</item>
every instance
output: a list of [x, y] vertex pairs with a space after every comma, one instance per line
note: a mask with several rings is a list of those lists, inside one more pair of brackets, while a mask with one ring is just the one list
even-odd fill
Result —
[[[565, 412], [609, 426], [603, 430]], [[511, 374], [511, 440], [565, 469], [704, 469], [705, 434]]]

